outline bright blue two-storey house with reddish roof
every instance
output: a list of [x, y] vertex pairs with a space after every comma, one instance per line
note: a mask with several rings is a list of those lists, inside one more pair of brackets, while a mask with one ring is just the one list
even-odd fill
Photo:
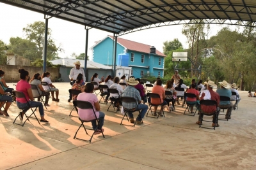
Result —
[[[129, 54], [128, 65], [129, 67], [132, 67], [132, 76], [136, 78], [140, 78], [145, 75], [163, 77], [164, 57], [166, 56], [156, 50], [156, 48], [152, 47], [153, 46], [135, 41], [117, 38], [116, 62], [118, 54], [124, 53], [124, 50], [127, 49], [127, 53]], [[98, 41], [90, 49], [93, 50], [94, 62], [107, 66], [113, 65], [113, 36], [107, 36], [106, 38]]]

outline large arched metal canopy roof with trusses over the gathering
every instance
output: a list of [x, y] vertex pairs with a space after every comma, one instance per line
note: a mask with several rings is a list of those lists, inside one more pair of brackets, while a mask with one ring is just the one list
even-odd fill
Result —
[[0, 0], [115, 34], [165, 25], [256, 21], [255, 0]]

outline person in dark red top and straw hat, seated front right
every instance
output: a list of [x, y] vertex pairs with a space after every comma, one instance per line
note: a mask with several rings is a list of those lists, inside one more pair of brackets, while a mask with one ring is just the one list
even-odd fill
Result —
[[[207, 83], [207, 90], [204, 90], [204, 92], [202, 92], [202, 96], [200, 97], [200, 101], [201, 100], [213, 100], [217, 102], [217, 117], [216, 115], [213, 116], [212, 118], [212, 127], [219, 127], [220, 125], [218, 124], [218, 115], [220, 113], [220, 108], [219, 108], [219, 104], [220, 104], [220, 95], [216, 92], [214, 92], [212, 89], [213, 88], [217, 88], [217, 85], [214, 84], [213, 81], [209, 80]], [[204, 114], [206, 115], [207, 113], [211, 114], [214, 111], [216, 111], [216, 106], [205, 106], [202, 105], [201, 106], [200, 113], [199, 113], [199, 117], [198, 117], [198, 121], [196, 122], [196, 124], [198, 125], [202, 125], [202, 118], [204, 117]], [[204, 114], [203, 114], [204, 113]], [[216, 121], [216, 124], [215, 124]]]

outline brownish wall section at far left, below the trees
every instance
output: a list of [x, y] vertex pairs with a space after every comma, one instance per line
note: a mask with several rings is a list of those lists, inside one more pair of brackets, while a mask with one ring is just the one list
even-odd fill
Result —
[[7, 54], [7, 64], [13, 66], [31, 66], [29, 59], [21, 57], [17, 54]]

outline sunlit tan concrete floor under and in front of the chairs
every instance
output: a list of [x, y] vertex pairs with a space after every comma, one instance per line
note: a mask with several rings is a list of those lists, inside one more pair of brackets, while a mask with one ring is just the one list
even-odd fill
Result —
[[[61, 95], [45, 110], [49, 124], [33, 119], [24, 127], [12, 124], [19, 113], [15, 103], [10, 117], [0, 116], [0, 169], [256, 169], [256, 98], [247, 97], [248, 92], [240, 92], [238, 110], [228, 122], [220, 120], [215, 131], [198, 128], [198, 115], [183, 115], [181, 106], [164, 118], [145, 117], [144, 125], [127, 127], [120, 125], [120, 111], [107, 112], [109, 104], [100, 104], [106, 138], [97, 135], [88, 143], [73, 139], [80, 123], [68, 117], [69, 83], [54, 85]], [[83, 129], [77, 135], [89, 137]]]

